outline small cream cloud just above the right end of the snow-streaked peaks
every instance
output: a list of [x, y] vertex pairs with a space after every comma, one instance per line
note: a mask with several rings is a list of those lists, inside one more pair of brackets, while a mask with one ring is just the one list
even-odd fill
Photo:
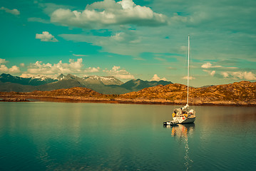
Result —
[[108, 73], [108, 75], [115, 76], [116, 78], [134, 79], [134, 76], [131, 75], [128, 71], [120, 68], [120, 66], [113, 66], [111, 70], [105, 69], [103, 72]]

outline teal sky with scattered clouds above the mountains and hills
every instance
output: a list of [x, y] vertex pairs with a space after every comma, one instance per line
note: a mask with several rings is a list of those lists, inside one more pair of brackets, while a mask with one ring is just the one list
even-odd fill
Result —
[[256, 81], [255, 0], [0, 1], [0, 73]]

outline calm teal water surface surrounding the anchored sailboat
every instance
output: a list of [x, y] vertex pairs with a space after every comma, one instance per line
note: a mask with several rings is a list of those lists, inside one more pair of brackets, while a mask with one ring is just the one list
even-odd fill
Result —
[[255, 170], [256, 108], [0, 103], [0, 170]]

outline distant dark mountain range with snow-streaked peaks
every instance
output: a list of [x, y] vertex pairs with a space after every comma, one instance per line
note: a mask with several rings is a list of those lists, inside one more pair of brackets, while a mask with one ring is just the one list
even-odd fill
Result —
[[90, 88], [98, 93], [123, 94], [158, 85], [165, 86], [170, 83], [172, 82], [143, 81], [140, 79], [123, 83], [113, 76], [85, 76], [80, 78], [71, 74], [61, 74], [57, 78], [48, 78], [46, 76], [22, 78], [6, 73], [0, 75], [0, 91], [4, 92], [31, 92], [34, 90], [57, 90], [61, 88], [82, 87]]

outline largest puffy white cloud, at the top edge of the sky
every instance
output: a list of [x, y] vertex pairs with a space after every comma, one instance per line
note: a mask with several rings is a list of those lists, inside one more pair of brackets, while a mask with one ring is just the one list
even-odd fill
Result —
[[84, 11], [57, 9], [51, 14], [51, 22], [79, 28], [133, 24], [160, 26], [168, 24], [167, 17], [157, 14], [146, 6], [135, 5], [132, 0], [104, 0], [87, 5]]

